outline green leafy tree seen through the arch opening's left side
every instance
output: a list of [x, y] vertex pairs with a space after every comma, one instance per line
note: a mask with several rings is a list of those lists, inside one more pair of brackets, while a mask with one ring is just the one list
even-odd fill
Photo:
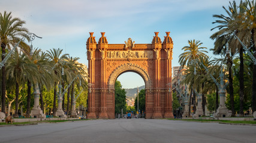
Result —
[[122, 88], [121, 82], [116, 80], [115, 82], [115, 113], [121, 113], [121, 110], [123, 109], [123, 112], [126, 112], [127, 109], [127, 102], [126, 102], [126, 92], [125, 89]]

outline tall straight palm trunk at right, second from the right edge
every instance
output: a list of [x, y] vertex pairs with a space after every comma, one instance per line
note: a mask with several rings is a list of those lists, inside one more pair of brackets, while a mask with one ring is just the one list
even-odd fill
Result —
[[244, 81], [243, 81], [243, 49], [242, 49], [242, 47], [240, 48], [239, 56], [240, 56], [240, 78], [239, 78], [239, 82], [240, 82], [240, 84], [239, 84], [239, 86], [240, 86], [240, 94], [239, 94], [240, 110], [239, 110], [239, 114], [240, 114], [240, 117], [243, 117]]

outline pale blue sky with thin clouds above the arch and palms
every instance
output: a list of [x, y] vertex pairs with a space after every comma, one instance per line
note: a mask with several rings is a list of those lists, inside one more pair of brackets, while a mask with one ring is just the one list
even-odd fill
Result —
[[[13, 17], [26, 21], [25, 27], [43, 39], [35, 39], [35, 48], [44, 51], [51, 48], [64, 49], [79, 62], [88, 65], [86, 40], [89, 32], [96, 39], [106, 32], [109, 43], [124, 43], [132, 38], [135, 43], [151, 43], [154, 32], [164, 40], [165, 32], [171, 32], [174, 42], [173, 66], [179, 66], [179, 55], [188, 40], [203, 42], [202, 46], [213, 48], [209, 37], [216, 25], [213, 14], [225, 14], [226, 0], [1, 0], [0, 13], [12, 12]], [[237, 1], [239, 2], [239, 1]], [[209, 55], [212, 52], [209, 51]], [[132, 78], [131, 78], [132, 77]], [[140, 80], [138, 80], [140, 79]], [[138, 74], [125, 73], [121, 80], [123, 88], [144, 85]], [[136, 81], [136, 82], [134, 82]]]

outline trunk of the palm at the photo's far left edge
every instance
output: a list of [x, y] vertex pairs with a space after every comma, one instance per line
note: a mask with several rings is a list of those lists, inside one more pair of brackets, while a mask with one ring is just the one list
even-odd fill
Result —
[[[1, 43], [2, 48], [2, 60], [5, 58], [5, 47], [4, 43]], [[5, 66], [2, 67], [2, 107], [1, 112], [5, 113], [5, 92], [6, 92], [6, 74], [5, 74]]]

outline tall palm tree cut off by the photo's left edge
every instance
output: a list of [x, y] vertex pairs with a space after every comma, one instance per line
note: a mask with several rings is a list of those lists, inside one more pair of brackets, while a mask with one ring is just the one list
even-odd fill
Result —
[[[11, 45], [15, 45], [20, 41], [20, 36], [29, 39], [26, 33], [28, 29], [23, 27], [25, 21], [20, 20], [20, 18], [13, 18], [11, 12], [7, 13], [4, 11], [4, 14], [0, 13], [0, 43], [2, 49], [2, 60], [5, 58], [6, 48], [10, 48]], [[29, 48], [26, 43], [21, 42], [22, 48]], [[28, 50], [28, 49], [27, 49]], [[25, 49], [26, 51], [26, 49]], [[5, 91], [6, 91], [6, 75], [5, 75], [5, 66], [2, 67], [2, 112], [5, 113]]]

